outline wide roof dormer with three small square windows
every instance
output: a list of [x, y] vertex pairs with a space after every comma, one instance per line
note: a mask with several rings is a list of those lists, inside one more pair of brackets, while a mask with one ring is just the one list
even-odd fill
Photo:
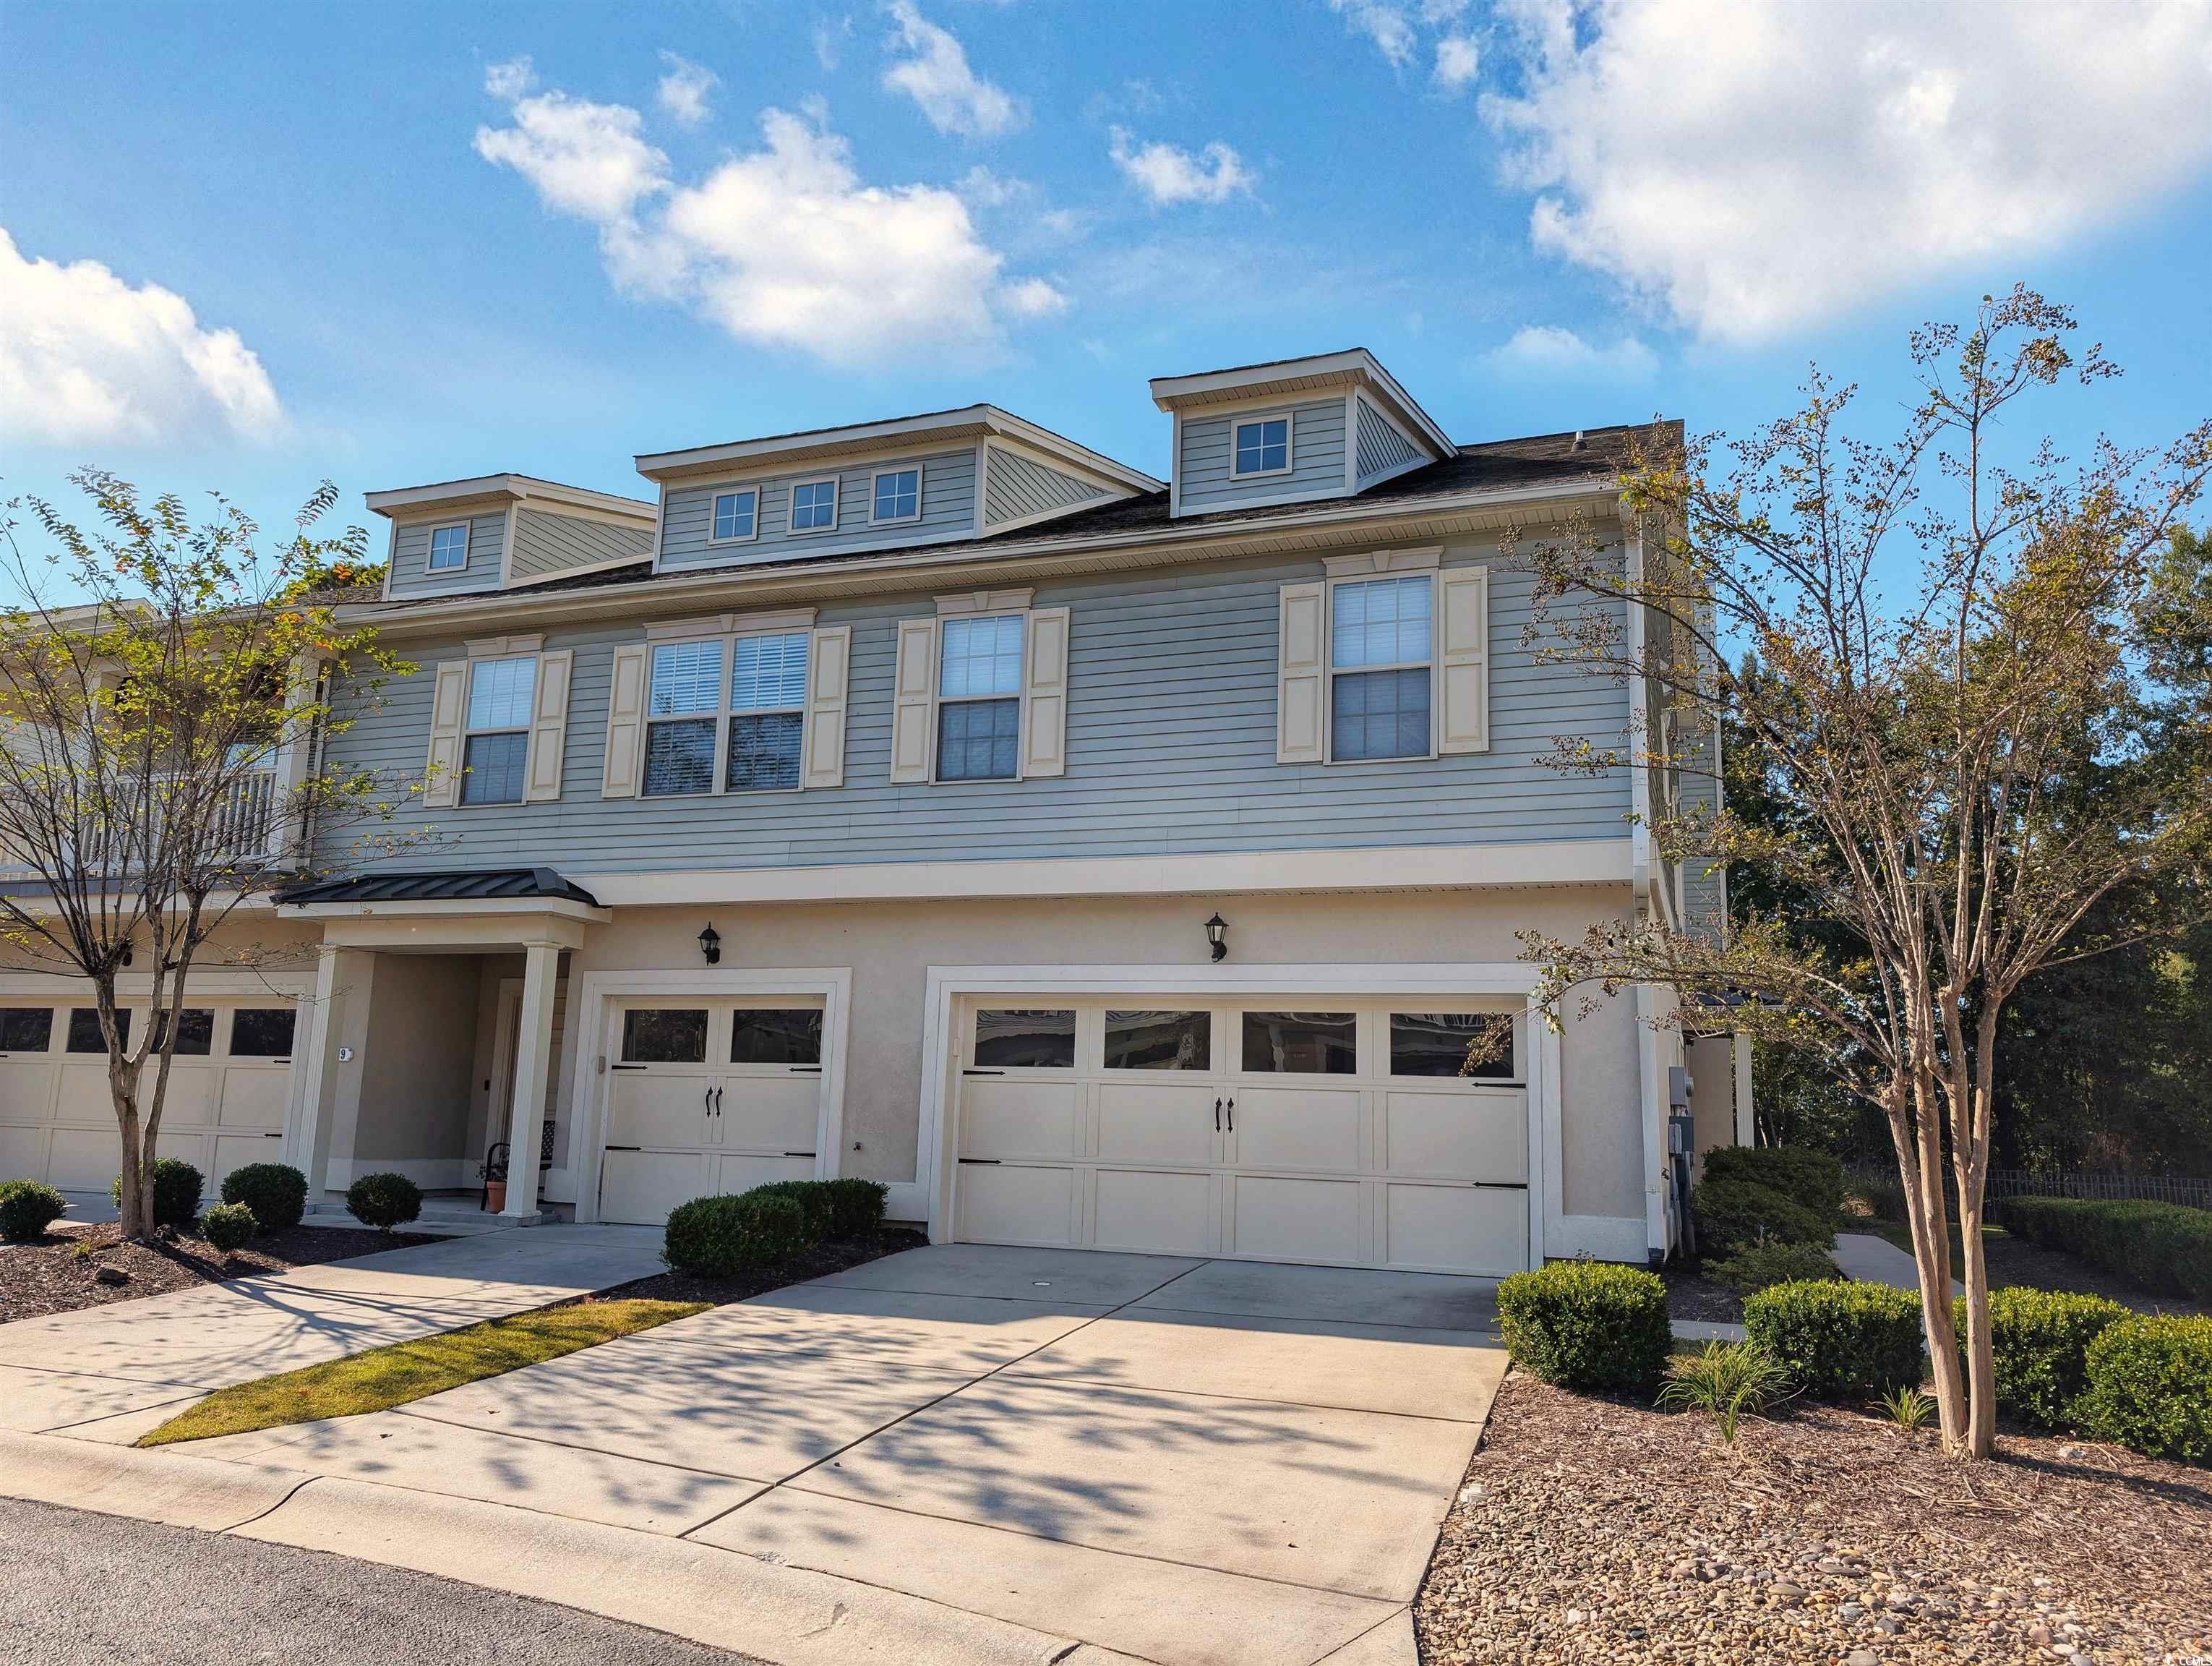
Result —
[[659, 571], [763, 566], [1013, 531], [1159, 480], [995, 405], [653, 451]]

